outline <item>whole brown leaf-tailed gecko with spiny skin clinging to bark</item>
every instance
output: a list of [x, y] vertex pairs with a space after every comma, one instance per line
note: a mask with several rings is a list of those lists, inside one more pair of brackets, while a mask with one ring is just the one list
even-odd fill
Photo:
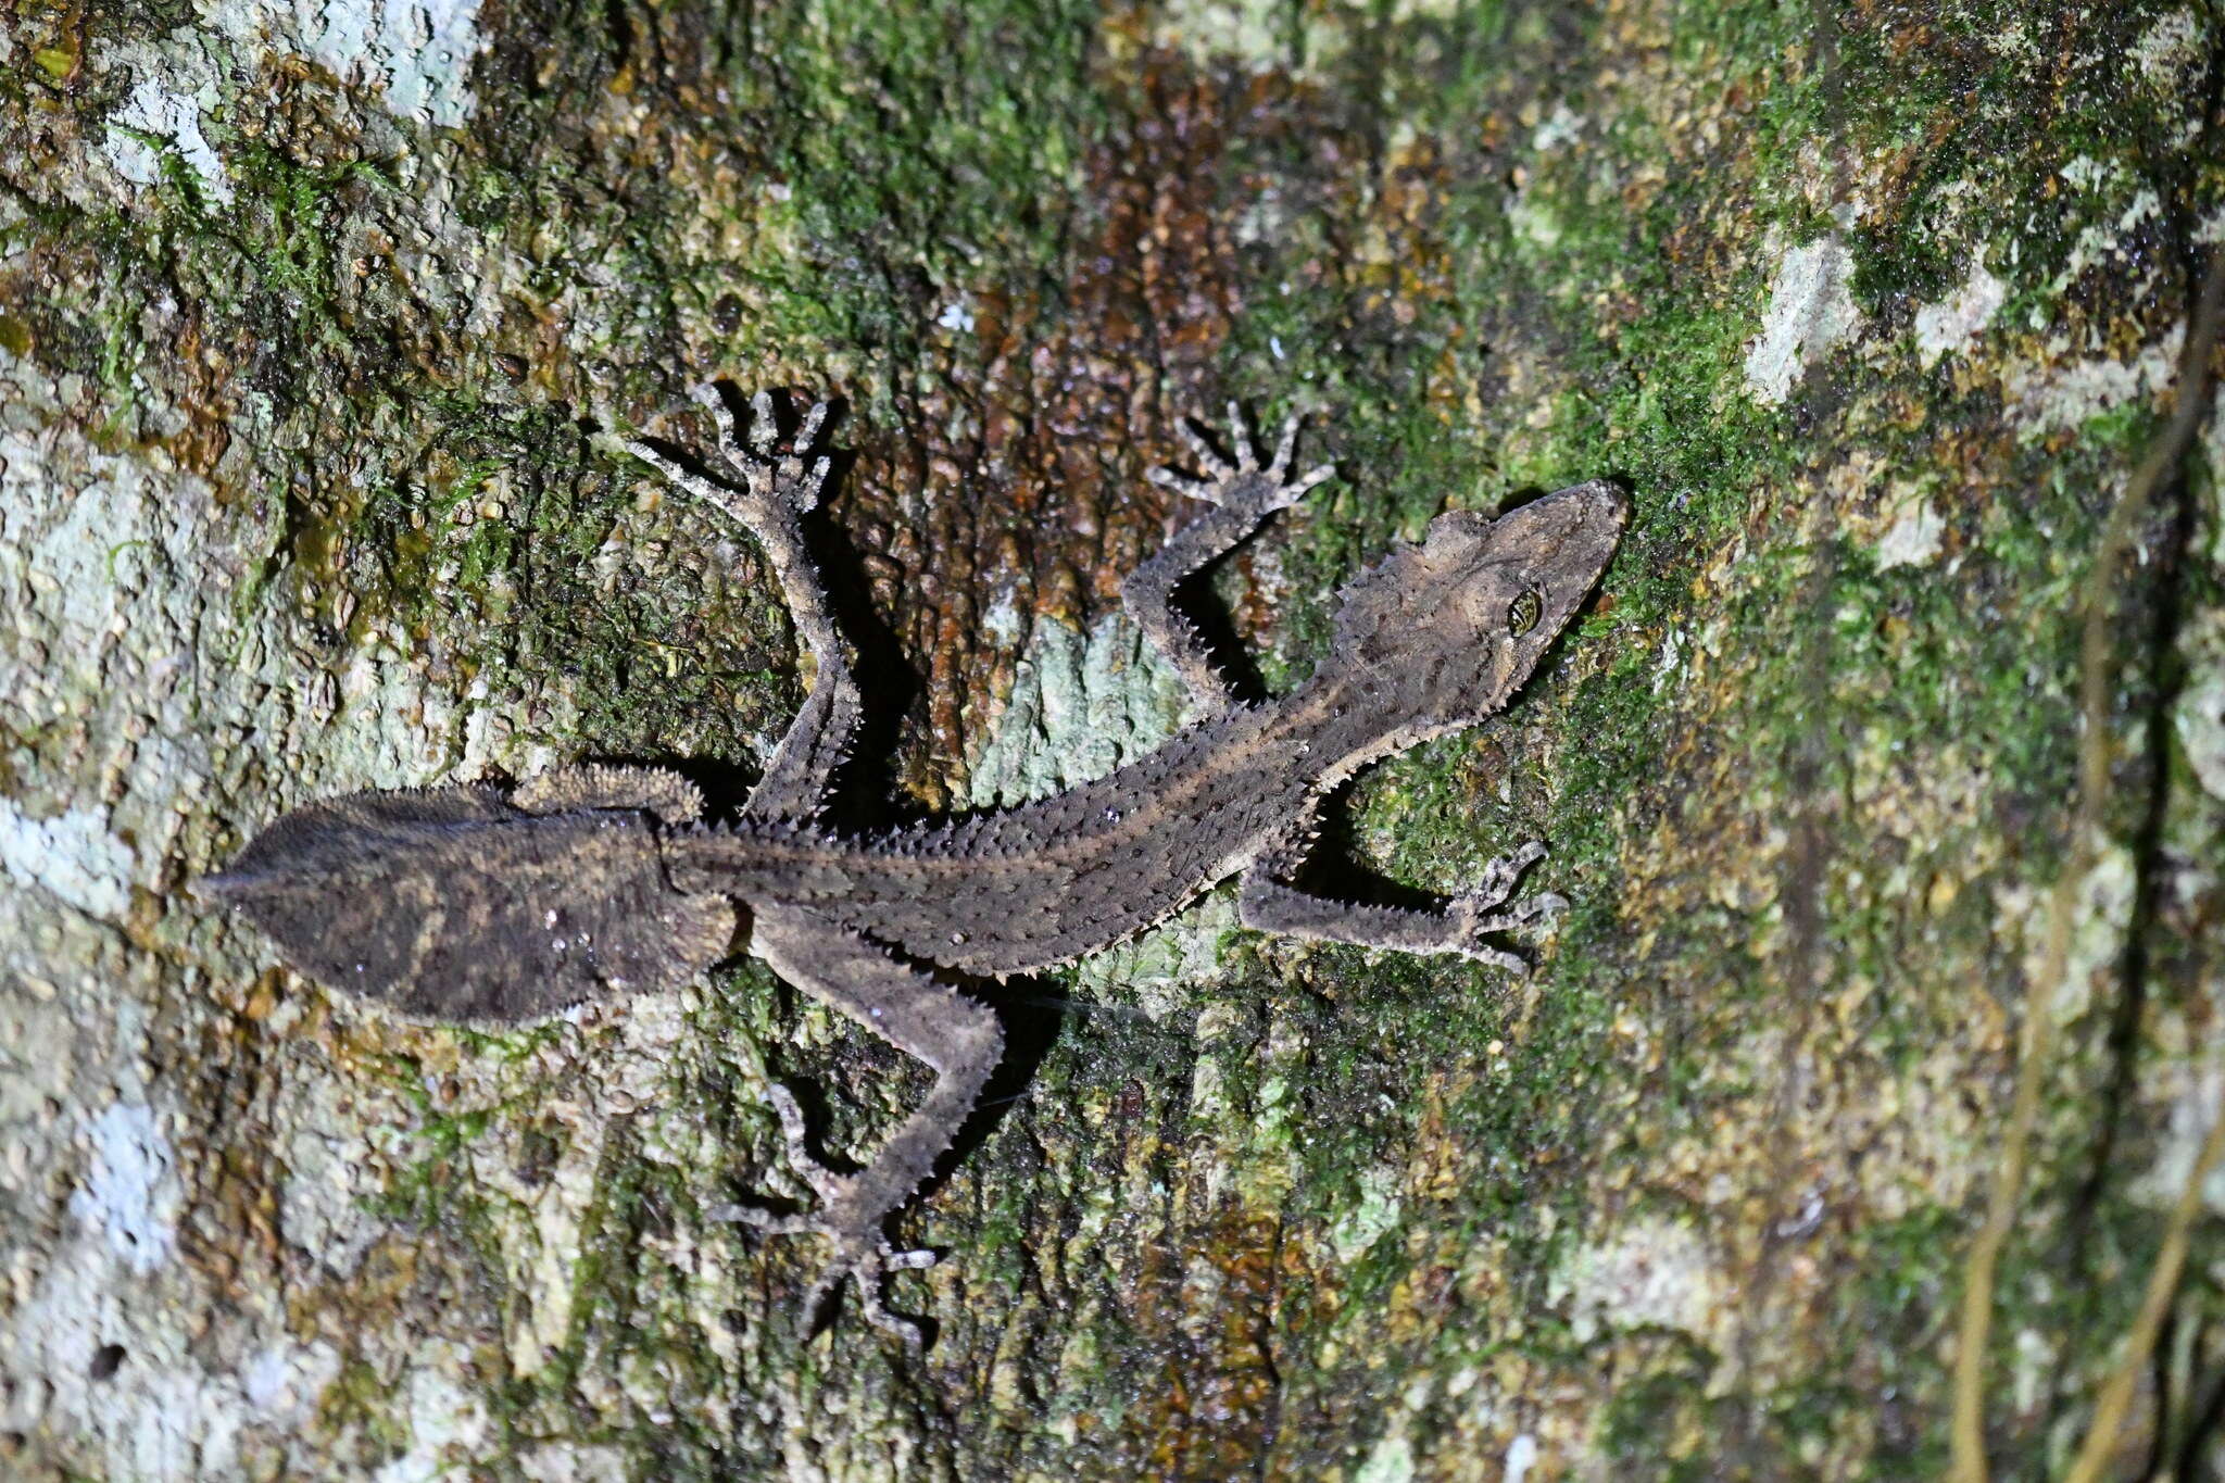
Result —
[[783, 436], [770, 396], [743, 422], [716, 387], [725, 469], [679, 445], [621, 440], [703, 507], [739, 522], [785, 596], [810, 691], [741, 809], [703, 816], [696, 787], [654, 767], [570, 765], [512, 789], [358, 792], [294, 809], [198, 894], [243, 914], [280, 958], [327, 985], [441, 1021], [516, 1023], [587, 998], [670, 989], [741, 949], [932, 1072], [926, 1096], [854, 1172], [823, 1163], [794, 1094], [765, 1089], [788, 1158], [817, 1198], [716, 1221], [830, 1243], [803, 1298], [814, 1316], [854, 1278], [863, 1316], [910, 1345], [888, 1274], [928, 1267], [886, 1225], [928, 1181], [1003, 1054], [992, 1007], [952, 981], [1003, 981], [1106, 949], [1237, 880], [1244, 927], [1411, 954], [1464, 954], [1513, 974], [1493, 943], [1566, 907], [1515, 900], [1531, 840], [1431, 909], [1342, 903], [1297, 885], [1324, 798], [1357, 769], [1500, 711], [1598, 585], [1624, 500], [1591, 480], [1500, 518], [1442, 514], [1337, 596], [1313, 674], [1246, 700], [1175, 589], [1333, 476], [1293, 471], [1297, 418], [1262, 462], [1230, 405], [1228, 454], [1193, 422], [1197, 474], [1153, 469], [1208, 509], [1121, 583], [1121, 603], [1175, 669], [1190, 720], [1153, 752], [1015, 807], [843, 832], [825, 820], [863, 714], [850, 649], [805, 545], [830, 460], [825, 402]]

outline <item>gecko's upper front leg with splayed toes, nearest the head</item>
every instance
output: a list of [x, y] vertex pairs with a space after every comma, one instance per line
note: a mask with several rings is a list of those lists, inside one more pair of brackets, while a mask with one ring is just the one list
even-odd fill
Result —
[[1217, 509], [1175, 531], [1175, 538], [1159, 547], [1157, 556], [1128, 574], [1119, 585], [1119, 596], [1135, 625], [1144, 629], [1150, 645], [1175, 667], [1181, 683], [1188, 685], [1190, 705], [1197, 707], [1197, 714], [1217, 716], [1235, 698], [1228, 694], [1228, 680], [1213, 667], [1213, 656], [1206, 651], [1204, 638], [1175, 611], [1175, 587], [1226, 556], [1235, 543], [1259, 529], [1259, 522], [1270, 514], [1297, 502], [1302, 494], [1335, 474], [1335, 465], [1324, 462], [1317, 469], [1299, 474], [1295, 480], [1290, 478], [1290, 454], [1297, 451], [1297, 418], [1293, 416], [1282, 427], [1275, 460], [1262, 469], [1259, 454], [1244, 429], [1244, 416], [1235, 402], [1228, 402], [1228, 436], [1237, 449], [1235, 462], [1222, 458], [1188, 420], [1181, 422], [1181, 436], [1197, 451], [1206, 478], [1190, 478], [1173, 469], [1153, 469], [1146, 478], [1193, 500], [1217, 505]]

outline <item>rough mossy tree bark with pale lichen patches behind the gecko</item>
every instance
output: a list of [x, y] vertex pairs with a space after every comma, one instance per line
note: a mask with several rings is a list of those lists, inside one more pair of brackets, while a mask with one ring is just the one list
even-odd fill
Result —
[[[2069, 856], [2078, 591], [2225, 238], [2216, 7], [0, 4], [0, 1470], [20, 1479], [1900, 1479]], [[1115, 583], [1175, 416], [1342, 478], [1219, 583], [1288, 685], [1446, 507], [1613, 476], [1500, 725], [1355, 789], [1531, 983], [1226, 894], [1015, 994], [906, 1243], [812, 1250], [759, 967], [407, 1025], [182, 889], [318, 794], [683, 760], [797, 703], [745, 540], [596, 440], [832, 394], [903, 807], [1164, 734]], [[2225, 431], [2118, 585], [1987, 1439], [2058, 1470], [2225, 1101]], [[914, 676], [903, 680], [906, 669]], [[866, 769], [866, 783], [874, 783]], [[2225, 1461], [2225, 1178], [2114, 1476]]]

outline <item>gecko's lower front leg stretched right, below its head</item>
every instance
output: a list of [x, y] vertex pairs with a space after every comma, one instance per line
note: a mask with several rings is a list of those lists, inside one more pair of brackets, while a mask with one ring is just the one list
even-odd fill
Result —
[[1413, 912], [1406, 907], [1328, 900], [1326, 896], [1313, 896], [1284, 883], [1279, 876], [1302, 863], [1302, 852], [1293, 847], [1244, 872], [1237, 889], [1237, 916], [1255, 932], [1279, 932], [1319, 943], [1353, 943], [1357, 947], [1386, 947], [1395, 952], [1457, 952], [1520, 976], [1529, 974], [1529, 963], [1504, 947], [1493, 947], [1484, 938], [1526, 927], [1540, 916], [1569, 907], [1562, 896], [1551, 892], [1524, 896], [1506, 905], [1522, 872], [1542, 858], [1544, 845], [1531, 840], [1486, 865], [1484, 880], [1473, 892], [1462, 892], [1433, 912]]

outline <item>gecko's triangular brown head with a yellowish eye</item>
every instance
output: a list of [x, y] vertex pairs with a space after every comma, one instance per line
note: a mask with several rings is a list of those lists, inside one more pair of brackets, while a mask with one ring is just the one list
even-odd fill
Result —
[[[1344, 589], [1331, 674], [1446, 725], [1502, 707], [1566, 627], [1622, 540], [1624, 500], [1575, 485], [1491, 520], [1437, 516]], [[1395, 705], [1411, 696], [1411, 707]]]

